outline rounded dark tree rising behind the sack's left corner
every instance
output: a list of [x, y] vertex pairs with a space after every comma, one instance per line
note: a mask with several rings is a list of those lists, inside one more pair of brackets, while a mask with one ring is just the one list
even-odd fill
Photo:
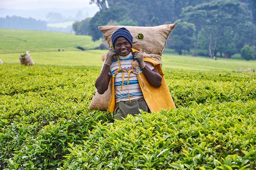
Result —
[[88, 34], [93, 41], [103, 38], [103, 33], [98, 29], [98, 26], [105, 26], [110, 20], [120, 22], [127, 19], [125, 14], [127, 9], [124, 7], [110, 7], [104, 11], [98, 11], [90, 20]]

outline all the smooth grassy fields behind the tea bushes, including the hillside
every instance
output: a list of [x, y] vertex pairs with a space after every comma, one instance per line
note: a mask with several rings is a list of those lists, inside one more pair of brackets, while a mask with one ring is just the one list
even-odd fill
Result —
[[[75, 36], [70, 33], [0, 29], [0, 59], [5, 64], [20, 64], [19, 55], [30, 51], [36, 65], [101, 67], [101, 55], [107, 50], [93, 50], [100, 41], [91, 41], [89, 36]], [[76, 47], [83, 47], [81, 51]], [[60, 49], [60, 52], [58, 52]], [[64, 52], [62, 51], [64, 49]], [[166, 49], [162, 55], [163, 69], [184, 70], [230, 70], [251, 68], [256, 70], [256, 60], [177, 55]]]

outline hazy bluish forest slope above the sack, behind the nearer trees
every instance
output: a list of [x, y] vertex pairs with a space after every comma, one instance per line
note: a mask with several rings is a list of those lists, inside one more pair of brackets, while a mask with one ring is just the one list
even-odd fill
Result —
[[150, 26], [152, 18], [158, 18], [159, 23], [174, 22], [180, 18], [182, 8], [208, 3], [213, 0], [107, 0], [109, 7], [120, 6], [128, 9], [126, 16], [138, 26]]

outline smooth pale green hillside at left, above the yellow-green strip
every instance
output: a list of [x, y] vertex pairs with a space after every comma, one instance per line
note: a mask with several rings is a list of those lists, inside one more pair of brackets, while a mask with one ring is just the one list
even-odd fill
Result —
[[0, 29], [0, 54], [30, 52], [80, 51], [76, 47], [95, 49], [100, 41], [91, 41], [90, 36], [71, 33]]

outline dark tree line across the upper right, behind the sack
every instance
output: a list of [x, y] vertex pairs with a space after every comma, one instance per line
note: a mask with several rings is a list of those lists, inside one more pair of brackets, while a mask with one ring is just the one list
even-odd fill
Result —
[[[201, 48], [209, 57], [230, 58], [256, 46], [256, 0], [90, 0], [94, 17], [75, 22], [76, 34], [103, 38], [98, 26], [158, 26], [177, 22], [166, 48], [179, 54]], [[108, 4], [108, 5], [107, 5]], [[253, 59], [253, 56], [246, 58]]]

